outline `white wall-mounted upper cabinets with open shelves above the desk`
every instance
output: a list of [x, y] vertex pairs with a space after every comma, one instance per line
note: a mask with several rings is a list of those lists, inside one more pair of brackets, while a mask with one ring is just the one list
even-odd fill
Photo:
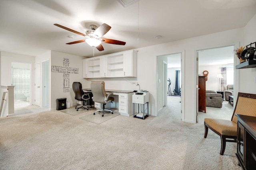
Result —
[[134, 50], [84, 60], [87, 61], [84, 78], [137, 76], [137, 51]]

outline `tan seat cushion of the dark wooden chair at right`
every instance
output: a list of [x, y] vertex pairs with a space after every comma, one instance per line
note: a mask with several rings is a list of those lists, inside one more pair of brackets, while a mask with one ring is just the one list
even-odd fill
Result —
[[237, 135], [237, 124], [231, 120], [205, 118], [204, 122], [221, 135]]

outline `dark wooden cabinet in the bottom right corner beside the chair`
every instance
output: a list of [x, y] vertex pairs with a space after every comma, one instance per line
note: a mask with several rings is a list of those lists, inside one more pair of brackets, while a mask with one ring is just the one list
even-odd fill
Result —
[[256, 169], [256, 117], [237, 115], [236, 156], [244, 170]]

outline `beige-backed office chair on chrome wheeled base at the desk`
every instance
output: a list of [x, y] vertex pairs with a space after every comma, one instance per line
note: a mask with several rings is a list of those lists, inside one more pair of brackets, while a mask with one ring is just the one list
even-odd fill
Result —
[[[113, 111], [110, 109], [105, 109], [106, 103], [113, 102], [114, 98], [110, 95], [113, 93], [106, 94], [105, 90], [105, 82], [104, 81], [92, 81], [91, 83], [91, 90], [92, 90], [92, 100], [94, 102], [102, 103], [103, 108], [97, 111], [102, 111], [102, 117], [104, 116], [104, 111], [110, 111], [113, 114]], [[97, 111], [94, 111], [94, 115]]]

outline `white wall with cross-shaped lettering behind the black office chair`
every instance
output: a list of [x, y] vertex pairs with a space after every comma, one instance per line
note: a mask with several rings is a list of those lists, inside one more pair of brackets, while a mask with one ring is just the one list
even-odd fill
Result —
[[[67, 101], [70, 102], [71, 106], [76, 105], [75, 94], [72, 89], [72, 83], [81, 82], [82, 85], [84, 85], [86, 82], [86, 80], [82, 78], [82, 59], [84, 59], [84, 57], [60, 53], [57, 51], [51, 51], [50, 69], [52, 66], [64, 66], [64, 59], [68, 59], [69, 61], [69, 65], [67, 67], [78, 69], [78, 74], [68, 73], [69, 78], [66, 78], [66, 80], [69, 80], [69, 92], [64, 92], [64, 73], [53, 72], [50, 70], [50, 109], [56, 109], [56, 99], [58, 98], [67, 98]], [[84, 86], [82, 87], [84, 88]]]

